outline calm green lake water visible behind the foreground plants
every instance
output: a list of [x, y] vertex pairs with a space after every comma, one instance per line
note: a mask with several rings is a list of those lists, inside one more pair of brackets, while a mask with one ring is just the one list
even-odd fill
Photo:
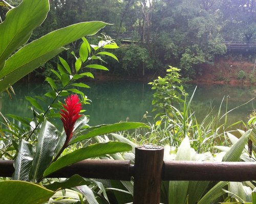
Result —
[[[91, 105], [83, 109], [85, 114], [90, 115], [90, 125], [102, 123], [115, 123], [119, 121], [141, 121], [143, 115], [153, 116], [151, 101], [153, 99], [151, 86], [142, 82], [105, 82], [90, 83], [91, 89], [82, 89], [84, 94], [92, 100]], [[191, 96], [196, 85], [185, 85], [185, 89]], [[14, 90], [16, 96], [10, 99], [6, 93], [0, 95], [0, 111], [6, 114], [16, 114], [22, 117], [31, 117], [30, 104], [25, 96], [43, 95], [48, 91], [47, 84], [16, 84]], [[222, 114], [225, 113], [226, 99], [228, 100], [227, 110], [236, 108], [251, 98], [256, 87], [232, 87], [220, 85], [199, 85], [193, 98], [191, 107], [195, 111], [198, 120], [202, 120], [207, 114], [209, 107], [215, 107], [214, 113], [218, 112], [223, 97]], [[248, 116], [255, 108], [255, 99], [248, 104], [233, 110], [228, 114], [229, 124], [238, 120], [247, 122]], [[145, 121], [145, 120], [142, 120]]]

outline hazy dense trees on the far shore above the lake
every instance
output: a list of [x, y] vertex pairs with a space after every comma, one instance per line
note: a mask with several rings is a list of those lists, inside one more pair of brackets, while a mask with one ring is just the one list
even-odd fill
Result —
[[[120, 63], [110, 61], [111, 72], [142, 76], [161, 69], [164, 73], [163, 67], [172, 65], [183, 77], [193, 77], [198, 65], [214, 63], [216, 56], [226, 53], [221, 42], [255, 42], [255, 4], [253, 0], [52, 0], [46, 21], [31, 39], [72, 23], [102, 20], [114, 25], [101, 33], [120, 45], [115, 50]], [[72, 50], [78, 50], [79, 42], [70, 45]], [[69, 54], [62, 57], [72, 60]], [[54, 62], [47, 64], [39, 73], [49, 75], [53, 66]]]

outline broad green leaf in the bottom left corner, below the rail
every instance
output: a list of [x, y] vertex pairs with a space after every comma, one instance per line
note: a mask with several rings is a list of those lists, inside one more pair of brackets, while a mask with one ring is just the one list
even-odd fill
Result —
[[53, 194], [53, 191], [38, 184], [24, 181], [0, 182], [0, 204], [42, 204]]

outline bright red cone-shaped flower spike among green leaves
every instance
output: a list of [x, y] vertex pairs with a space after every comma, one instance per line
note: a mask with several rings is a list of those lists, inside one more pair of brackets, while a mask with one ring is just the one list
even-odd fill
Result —
[[63, 104], [64, 109], [60, 110], [61, 121], [63, 122], [64, 130], [66, 132], [67, 138], [64, 146], [66, 147], [71, 140], [73, 134], [73, 129], [76, 120], [81, 117], [79, 115], [80, 110], [82, 109], [82, 104], [79, 103], [79, 98], [76, 94], [71, 94], [66, 98], [66, 105]]

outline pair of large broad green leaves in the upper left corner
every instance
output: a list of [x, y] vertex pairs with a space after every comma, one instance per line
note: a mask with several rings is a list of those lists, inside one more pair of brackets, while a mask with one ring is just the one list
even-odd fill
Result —
[[65, 50], [62, 46], [83, 36], [93, 35], [107, 24], [100, 21], [73, 24], [18, 49], [29, 40], [32, 31], [45, 20], [48, 12], [49, 0], [24, 0], [6, 14], [0, 24], [0, 35], [3, 36], [0, 48], [0, 92]]

